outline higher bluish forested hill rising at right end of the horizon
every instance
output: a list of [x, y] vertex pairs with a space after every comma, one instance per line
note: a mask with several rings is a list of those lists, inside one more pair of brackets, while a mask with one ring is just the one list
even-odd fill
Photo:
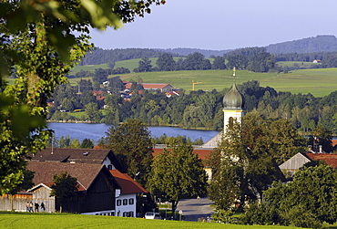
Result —
[[269, 45], [267, 51], [272, 54], [281, 53], [313, 53], [337, 51], [336, 36], [316, 36]]

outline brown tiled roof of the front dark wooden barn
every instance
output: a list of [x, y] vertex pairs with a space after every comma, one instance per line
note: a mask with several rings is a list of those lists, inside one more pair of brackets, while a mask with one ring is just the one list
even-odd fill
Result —
[[77, 182], [80, 184], [78, 189], [81, 191], [87, 190], [91, 183], [94, 182], [98, 173], [106, 168], [103, 164], [28, 161], [27, 169], [35, 172], [33, 182], [36, 184], [53, 183], [55, 174], [67, 172], [70, 176], [77, 178]]

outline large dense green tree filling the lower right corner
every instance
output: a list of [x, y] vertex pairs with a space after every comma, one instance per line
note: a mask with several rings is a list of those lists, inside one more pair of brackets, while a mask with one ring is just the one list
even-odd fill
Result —
[[296, 172], [293, 182], [273, 183], [265, 192], [269, 209], [278, 215], [273, 223], [317, 228], [337, 222], [336, 178], [335, 169], [321, 164]]

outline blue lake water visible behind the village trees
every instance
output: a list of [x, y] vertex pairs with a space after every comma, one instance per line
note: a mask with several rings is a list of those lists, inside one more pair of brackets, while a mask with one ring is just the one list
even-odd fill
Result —
[[[47, 123], [48, 128], [55, 131], [55, 137], [59, 140], [62, 136], [69, 135], [70, 139], [78, 139], [83, 141], [84, 139], [90, 139], [97, 141], [102, 137], [106, 137], [106, 132], [110, 128], [110, 125], [99, 123], [64, 123], [64, 122], [50, 122]], [[152, 137], [160, 137], [164, 133], [170, 137], [177, 137], [178, 135], [189, 137], [191, 141], [202, 138], [202, 141], [206, 142], [219, 133], [215, 130], [187, 130], [175, 127], [148, 127]]]

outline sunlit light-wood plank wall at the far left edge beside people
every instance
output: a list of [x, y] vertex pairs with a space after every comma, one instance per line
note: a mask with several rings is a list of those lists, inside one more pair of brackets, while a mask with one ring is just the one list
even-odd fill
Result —
[[[13, 210], [16, 212], [26, 212], [26, 203], [33, 201], [30, 193], [20, 193], [13, 196]], [[11, 196], [4, 194], [0, 196], [0, 211], [11, 211]]]

